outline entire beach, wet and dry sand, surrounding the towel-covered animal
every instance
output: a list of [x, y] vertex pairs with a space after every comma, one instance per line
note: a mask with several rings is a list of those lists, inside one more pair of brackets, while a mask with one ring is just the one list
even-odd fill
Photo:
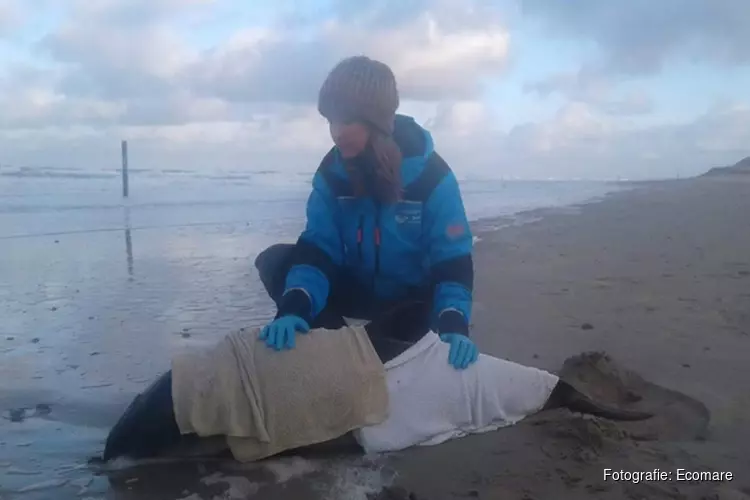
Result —
[[[0, 498], [750, 496], [750, 182], [705, 178], [628, 187], [566, 208], [478, 220], [472, 332], [483, 352], [563, 373], [600, 398], [654, 411], [654, 421], [620, 424], [554, 411], [384, 457], [92, 469], [86, 459], [101, 449], [102, 436], [133, 395], [168, 367], [165, 354], [208, 344], [268, 315], [267, 304], [262, 313], [251, 307], [262, 303], [258, 293], [242, 290], [253, 279], [248, 249], [262, 248], [274, 234], [245, 245], [238, 244], [244, 236], [204, 231], [196, 240], [179, 230], [166, 248], [149, 242], [147, 231], [121, 231], [121, 240], [106, 243], [118, 245], [116, 263], [84, 262], [67, 282], [44, 281], [42, 269], [34, 275], [36, 314], [43, 309], [69, 319], [75, 310], [78, 323], [39, 319], [48, 335], [24, 331], [33, 322], [4, 327], [0, 403], [3, 410], [27, 409], [23, 422], [0, 421]], [[135, 251], [122, 258], [128, 239]], [[49, 240], [63, 253], [80, 244], [65, 235]], [[168, 281], [162, 272], [157, 281], [157, 257], [167, 250], [183, 273], [203, 281], [188, 282], [177, 271]], [[221, 259], [201, 258], [211, 252]], [[83, 277], [107, 269], [106, 292]], [[200, 293], [206, 288], [208, 301]], [[3, 292], [7, 317], [22, 317], [28, 303]], [[76, 301], [80, 293], [89, 300]], [[154, 324], [162, 330], [145, 336], [144, 325]], [[585, 352], [606, 355], [581, 357]], [[11, 377], [23, 380], [17, 390], [7, 382]], [[617, 481], [605, 479], [605, 469], [672, 476]], [[733, 477], [681, 481], [678, 469]]]

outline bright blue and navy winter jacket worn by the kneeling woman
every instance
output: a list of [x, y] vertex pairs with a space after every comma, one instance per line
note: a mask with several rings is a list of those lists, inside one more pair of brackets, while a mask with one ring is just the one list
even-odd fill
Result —
[[[432, 328], [468, 335], [474, 270], [472, 234], [455, 175], [434, 151], [432, 136], [413, 118], [396, 117], [403, 198], [378, 205], [354, 197], [338, 150], [320, 164], [307, 202], [279, 312], [312, 320], [340, 273], [370, 287], [375, 300], [432, 292]], [[302, 291], [306, 300], [300, 305]], [[346, 291], [344, 291], [346, 293]]]

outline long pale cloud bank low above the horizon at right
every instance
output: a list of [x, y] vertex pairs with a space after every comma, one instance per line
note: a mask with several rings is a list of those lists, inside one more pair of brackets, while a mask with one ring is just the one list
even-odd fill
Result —
[[564, 106], [549, 121], [499, 134], [497, 163], [505, 175], [651, 178], [694, 175], [750, 153], [750, 107], [716, 106], [694, 121], [641, 127], [590, 105]]

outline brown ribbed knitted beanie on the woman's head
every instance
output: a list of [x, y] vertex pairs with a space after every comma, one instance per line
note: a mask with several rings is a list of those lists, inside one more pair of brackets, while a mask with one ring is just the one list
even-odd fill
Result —
[[386, 135], [393, 134], [398, 106], [391, 68], [365, 56], [339, 62], [318, 94], [318, 111], [328, 120], [362, 120]]

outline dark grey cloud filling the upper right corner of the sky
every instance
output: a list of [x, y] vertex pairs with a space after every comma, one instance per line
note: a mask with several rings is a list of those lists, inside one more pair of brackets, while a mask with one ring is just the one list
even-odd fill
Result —
[[623, 83], [656, 77], [674, 63], [721, 71], [750, 63], [750, 2], [745, 0], [583, 0], [570, 8], [554, 0], [520, 0], [528, 19], [552, 37], [594, 42], [594, 55], [575, 70], [530, 81], [525, 90], [558, 94], [617, 115], [647, 114], [644, 90], [619, 92]]

